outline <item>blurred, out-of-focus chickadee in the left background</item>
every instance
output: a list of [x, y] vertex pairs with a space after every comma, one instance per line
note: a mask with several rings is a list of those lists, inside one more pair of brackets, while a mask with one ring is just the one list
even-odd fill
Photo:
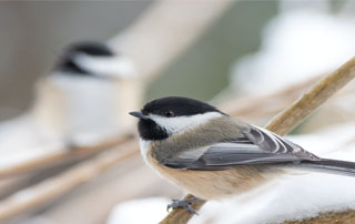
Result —
[[132, 125], [126, 113], [140, 104], [139, 83], [133, 62], [109, 45], [72, 43], [39, 82], [32, 111], [43, 128], [75, 144], [95, 142]]

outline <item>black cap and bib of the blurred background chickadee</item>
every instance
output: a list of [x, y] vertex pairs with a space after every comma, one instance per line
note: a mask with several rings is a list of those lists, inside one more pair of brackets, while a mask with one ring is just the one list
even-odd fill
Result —
[[114, 52], [104, 43], [97, 41], [81, 41], [69, 44], [64, 48], [58, 63], [54, 65], [54, 71], [60, 71], [62, 74], [70, 75], [93, 75], [85, 68], [80, 67], [73, 60], [79, 53], [84, 53], [92, 57], [114, 57]]

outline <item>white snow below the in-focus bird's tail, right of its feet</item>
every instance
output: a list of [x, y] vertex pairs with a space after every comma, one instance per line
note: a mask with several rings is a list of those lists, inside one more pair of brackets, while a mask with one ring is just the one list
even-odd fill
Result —
[[[211, 202], [195, 217], [194, 224], [257, 224], [315, 216], [320, 212], [355, 207], [355, 179], [327, 174], [283, 177], [268, 191], [248, 201]], [[237, 211], [237, 212], [236, 212]], [[256, 215], [257, 214], [257, 215]]]

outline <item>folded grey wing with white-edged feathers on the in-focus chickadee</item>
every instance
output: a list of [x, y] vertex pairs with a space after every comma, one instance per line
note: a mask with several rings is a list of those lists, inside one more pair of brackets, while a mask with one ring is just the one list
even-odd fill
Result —
[[244, 131], [244, 138], [220, 142], [196, 150], [186, 150], [160, 161], [183, 170], [224, 170], [248, 164], [298, 163], [320, 160], [301, 146], [256, 126]]

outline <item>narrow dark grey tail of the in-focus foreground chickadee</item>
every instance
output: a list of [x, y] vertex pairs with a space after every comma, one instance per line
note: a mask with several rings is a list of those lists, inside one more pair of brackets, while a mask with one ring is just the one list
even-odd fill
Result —
[[322, 159], [320, 161], [302, 161], [296, 167], [316, 172], [355, 176], [355, 162]]

